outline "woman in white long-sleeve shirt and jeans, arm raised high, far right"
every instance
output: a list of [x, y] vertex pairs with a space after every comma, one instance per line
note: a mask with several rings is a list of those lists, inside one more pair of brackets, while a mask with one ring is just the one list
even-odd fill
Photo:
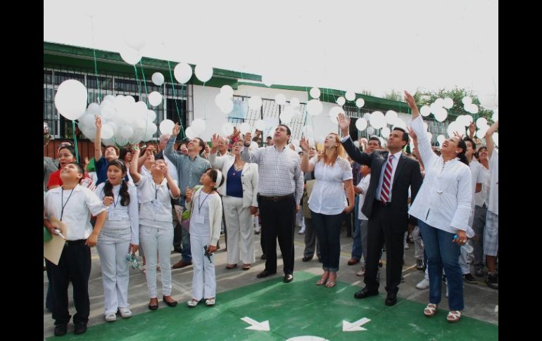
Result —
[[[422, 187], [412, 203], [409, 214], [418, 219], [429, 271], [429, 304], [425, 316], [434, 316], [441, 302], [442, 271], [448, 280], [448, 322], [458, 322], [463, 302], [463, 278], [459, 266], [460, 246], [472, 238], [469, 227], [472, 188], [471, 174], [465, 157], [465, 141], [452, 137], [441, 145], [437, 156], [427, 139], [422, 117], [414, 98], [405, 91], [405, 100], [412, 110], [412, 139], [417, 139], [418, 153], [425, 167]], [[415, 133], [415, 134], [412, 134]], [[455, 238], [457, 236], [457, 238]]]

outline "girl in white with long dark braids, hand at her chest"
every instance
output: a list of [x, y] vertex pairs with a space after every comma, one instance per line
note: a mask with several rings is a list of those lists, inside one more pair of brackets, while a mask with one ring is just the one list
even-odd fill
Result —
[[107, 180], [98, 185], [96, 195], [107, 207], [107, 220], [98, 236], [105, 319], [113, 322], [119, 311], [122, 318], [132, 316], [128, 309], [128, 262], [126, 255], [139, 247], [139, 207], [137, 189], [124, 177], [126, 166], [120, 160], [107, 165]]

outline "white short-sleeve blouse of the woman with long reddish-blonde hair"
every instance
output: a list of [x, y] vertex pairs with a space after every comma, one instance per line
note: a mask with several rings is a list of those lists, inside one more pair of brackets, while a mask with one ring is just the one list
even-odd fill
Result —
[[318, 162], [315, 156], [309, 160], [315, 166], [315, 184], [310, 194], [308, 207], [320, 214], [339, 214], [348, 206], [343, 181], [350, 180], [352, 167], [344, 157], [337, 157], [334, 165], [324, 164], [324, 158]]

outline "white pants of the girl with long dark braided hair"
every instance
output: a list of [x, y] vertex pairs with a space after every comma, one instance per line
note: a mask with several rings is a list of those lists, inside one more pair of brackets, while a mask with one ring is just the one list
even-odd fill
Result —
[[128, 281], [130, 272], [126, 255], [130, 250], [130, 240], [96, 244], [100, 255], [101, 279], [103, 282], [104, 315], [116, 313], [118, 308], [127, 308]]

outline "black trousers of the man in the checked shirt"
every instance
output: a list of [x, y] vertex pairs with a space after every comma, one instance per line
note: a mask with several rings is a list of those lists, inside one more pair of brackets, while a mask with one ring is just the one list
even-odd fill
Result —
[[294, 197], [281, 201], [267, 201], [258, 197], [262, 234], [265, 240], [265, 269], [277, 271], [277, 237], [284, 263], [284, 274], [294, 274], [294, 224], [296, 202]]

